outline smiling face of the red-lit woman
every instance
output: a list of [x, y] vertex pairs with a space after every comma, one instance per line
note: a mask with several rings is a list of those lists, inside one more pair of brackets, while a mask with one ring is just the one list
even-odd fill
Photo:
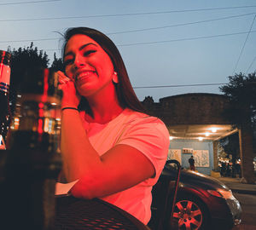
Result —
[[114, 90], [113, 63], [108, 54], [92, 38], [77, 34], [65, 49], [65, 72], [72, 78], [80, 95], [88, 97], [102, 89]]

